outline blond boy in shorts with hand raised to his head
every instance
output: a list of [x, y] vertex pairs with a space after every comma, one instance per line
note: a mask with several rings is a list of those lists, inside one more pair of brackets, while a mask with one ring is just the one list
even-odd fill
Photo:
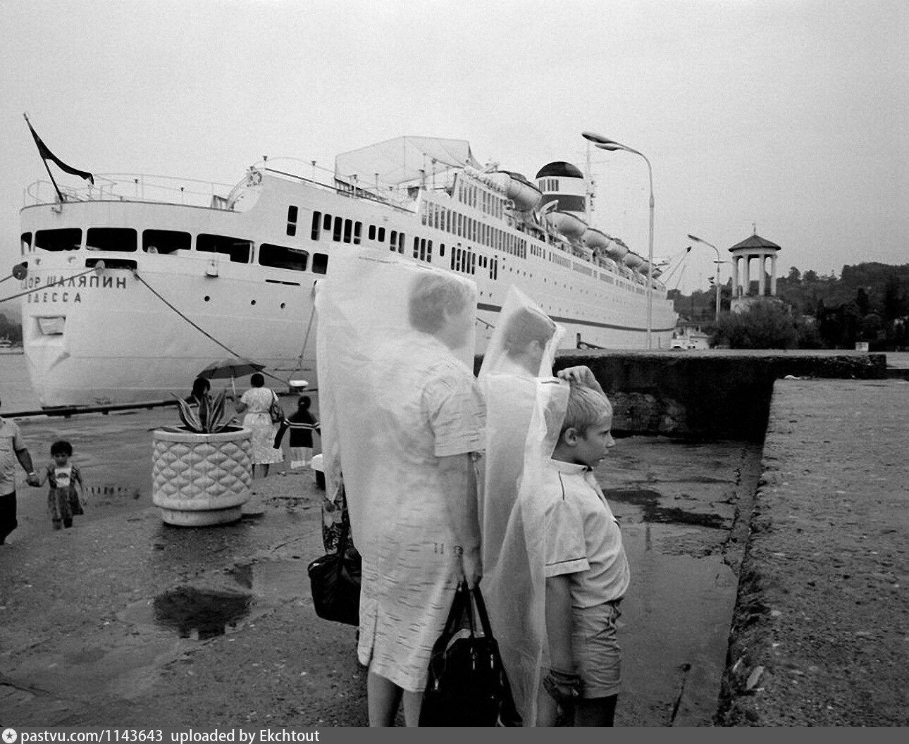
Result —
[[612, 726], [621, 660], [615, 621], [630, 571], [618, 521], [592, 470], [615, 444], [613, 409], [586, 367], [559, 377], [571, 392], [541, 483], [550, 665], [537, 723]]

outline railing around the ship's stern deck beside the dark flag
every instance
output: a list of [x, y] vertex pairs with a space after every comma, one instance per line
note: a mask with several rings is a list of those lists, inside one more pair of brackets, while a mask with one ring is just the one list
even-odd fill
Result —
[[[229, 209], [234, 184], [151, 174], [94, 174], [95, 184], [60, 186], [65, 202], [152, 202]], [[59, 202], [54, 184], [35, 181], [25, 188], [25, 206]]]

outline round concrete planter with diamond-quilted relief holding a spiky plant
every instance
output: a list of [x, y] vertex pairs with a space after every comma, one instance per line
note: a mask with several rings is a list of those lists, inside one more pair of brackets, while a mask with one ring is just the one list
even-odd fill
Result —
[[253, 483], [252, 436], [237, 427], [216, 434], [156, 429], [152, 502], [161, 518], [182, 527], [239, 520]]

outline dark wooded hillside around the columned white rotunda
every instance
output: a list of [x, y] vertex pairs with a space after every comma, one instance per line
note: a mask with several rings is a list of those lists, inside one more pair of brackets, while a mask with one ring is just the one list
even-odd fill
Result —
[[[711, 282], [713, 283], [713, 282]], [[765, 277], [770, 286], [770, 277]], [[757, 293], [752, 281], [751, 291]], [[776, 280], [778, 302], [729, 312], [732, 279], [720, 287], [721, 314], [714, 321], [713, 287], [689, 295], [670, 290], [675, 312], [701, 322], [714, 345], [741, 349], [854, 349], [903, 351], [909, 347], [909, 263], [858, 263], [835, 273], [802, 273], [795, 266]]]

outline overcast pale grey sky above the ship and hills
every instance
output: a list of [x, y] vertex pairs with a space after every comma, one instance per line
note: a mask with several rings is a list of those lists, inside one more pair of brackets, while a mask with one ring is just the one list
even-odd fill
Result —
[[531, 179], [589, 159], [593, 226], [645, 256], [647, 163], [594, 132], [651, 164], [671, 289], [714, 276], [689, 233], [728, 260], [756, 231], [778, 275], [909, 263], [907, 39], [906, 0], [0, 0], [0, 278], [47, 180], [24, 113], [95, 174], [234, 184], [402, 134]]

